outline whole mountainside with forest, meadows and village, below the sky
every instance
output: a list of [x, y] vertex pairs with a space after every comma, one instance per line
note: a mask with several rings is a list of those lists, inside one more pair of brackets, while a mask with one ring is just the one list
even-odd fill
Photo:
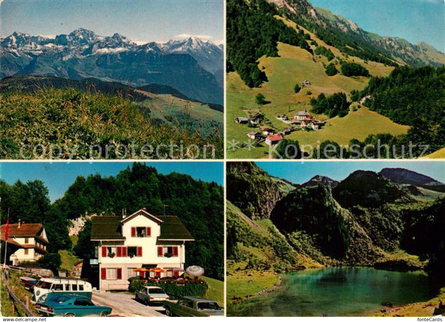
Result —
[[380, 140], [397, 147], [390, 158], [409, 142], [429, 145], [413, 157], [443, 157], [444, 64], [430, 44], [365, 31], [310, 0], [228, 0], [227, 156], [274, 158], [283, 142], [322, 159], [318, 146]]

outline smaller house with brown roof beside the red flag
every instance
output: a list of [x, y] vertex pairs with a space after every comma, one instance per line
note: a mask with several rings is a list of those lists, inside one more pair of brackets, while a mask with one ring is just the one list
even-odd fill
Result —
[[[0, 227], [2, 249], [6, 241], [6, 225]], [[41, 223], [10, 224], [8, 229], [9, 262], [18, 265], [21, 262], [36, 262], [48, 251], [48, 238]]]

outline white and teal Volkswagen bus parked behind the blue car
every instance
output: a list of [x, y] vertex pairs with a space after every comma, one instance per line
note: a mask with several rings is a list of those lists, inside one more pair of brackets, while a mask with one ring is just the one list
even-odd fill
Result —
[[92, 286], [89, 282], [76, 278], [40, 278], [34, 286], [32, 301], [44, 302], [49, 293], [76, 294], [89, 299], [93, 294]]

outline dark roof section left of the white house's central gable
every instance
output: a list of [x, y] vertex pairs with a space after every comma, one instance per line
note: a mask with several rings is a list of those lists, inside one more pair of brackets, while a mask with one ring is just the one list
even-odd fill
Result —
[[91, 217], [91, 240], [125, 240], [120, 216]]

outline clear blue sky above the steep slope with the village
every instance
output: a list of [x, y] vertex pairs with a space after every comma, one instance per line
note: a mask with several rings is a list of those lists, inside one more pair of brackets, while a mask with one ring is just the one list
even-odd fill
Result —
[[444, 0], [309, 0], [380, 36], [425, 41], [445, 52]]

